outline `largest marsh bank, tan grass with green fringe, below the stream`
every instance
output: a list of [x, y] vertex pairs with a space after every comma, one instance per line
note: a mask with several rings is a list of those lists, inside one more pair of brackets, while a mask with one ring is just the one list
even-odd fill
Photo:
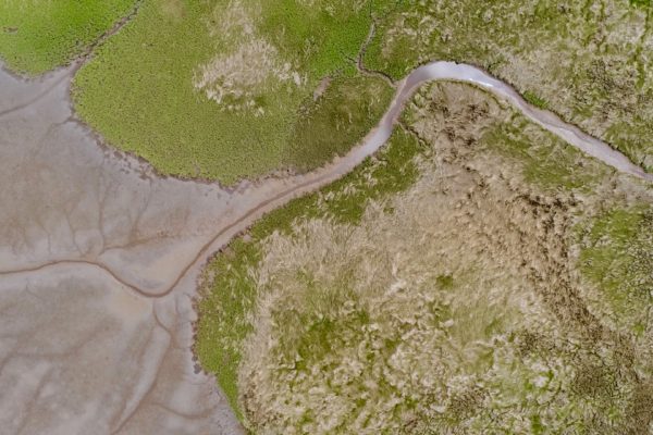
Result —
[[651, 186], [467, 85], [402, 124], [208, 266], [196, 352], [245, 424], [648, 428]]

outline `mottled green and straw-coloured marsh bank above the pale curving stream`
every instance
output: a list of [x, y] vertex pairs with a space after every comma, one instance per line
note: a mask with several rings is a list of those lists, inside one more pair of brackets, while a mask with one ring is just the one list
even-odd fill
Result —
[[366, 51], [403, 77], [433, 60], [471, 63], [653, 172], [650, 1], [398, 1]]

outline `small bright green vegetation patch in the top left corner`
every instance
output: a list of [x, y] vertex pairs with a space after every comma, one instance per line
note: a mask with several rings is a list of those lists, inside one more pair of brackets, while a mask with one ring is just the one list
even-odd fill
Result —
[[3, 0], [0, 2], [0, 57], [29, 75], [65, 65], [120, 18], [134, 0]]

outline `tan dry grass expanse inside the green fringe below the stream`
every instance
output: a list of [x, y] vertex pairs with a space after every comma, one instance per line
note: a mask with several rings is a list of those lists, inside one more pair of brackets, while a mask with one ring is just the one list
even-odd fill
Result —
[[588, 303], [574, 249], [578, 222], [645, 187], [527, 182], [520, 158], [484, 145], [518, 120], [469, 86], [432, 85], [409, 112], [432, 146], [411, 188], [357, 225], [304, 219], [261, 244], [254, 332], [239, 345], [246, 422], [274, 434], [648, 427], [631, 415], [651, 338], [636, 344]]

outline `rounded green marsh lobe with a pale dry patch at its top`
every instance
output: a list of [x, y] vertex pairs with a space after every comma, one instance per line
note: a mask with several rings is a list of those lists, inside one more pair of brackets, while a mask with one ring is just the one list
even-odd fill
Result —
[[79, 71], [76, 109], [163, 174], [232, 184], [315, 169], [392, 98], [355, 66], [385, 3], [145, 0]]

